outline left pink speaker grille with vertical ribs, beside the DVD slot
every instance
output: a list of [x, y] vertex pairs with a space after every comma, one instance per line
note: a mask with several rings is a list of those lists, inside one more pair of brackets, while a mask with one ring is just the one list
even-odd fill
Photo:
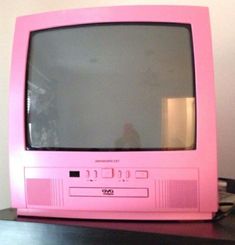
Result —
[[28, 206], [64, 206], [60, 179], [26, 179], [26, 191]]

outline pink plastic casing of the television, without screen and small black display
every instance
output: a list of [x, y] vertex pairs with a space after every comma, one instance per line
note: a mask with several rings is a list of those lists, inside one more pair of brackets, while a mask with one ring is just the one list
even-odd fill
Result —
[[[186, 151], [29, 151], [25, 78], [30, 32], [88, 23], [167, 22], [192, 28], [196, 149]], [[19, 215], [140, 220], [211, 219], [217, 210], [215, 97], [208, 9], [116, 6], [20, 17], [10, 82], [10, 180]], [[69, 171], [79, 170], [79, 178]]]

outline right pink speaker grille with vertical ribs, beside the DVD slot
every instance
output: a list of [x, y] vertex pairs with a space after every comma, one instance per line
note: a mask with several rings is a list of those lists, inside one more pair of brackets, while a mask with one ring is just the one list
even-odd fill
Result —
[[156, 207], [159, 209], [198, 208], [197, 180], [157, 180]]

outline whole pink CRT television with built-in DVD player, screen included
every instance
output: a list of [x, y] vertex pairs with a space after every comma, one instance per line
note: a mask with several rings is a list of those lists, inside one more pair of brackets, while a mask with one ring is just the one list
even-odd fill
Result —
[[9, 127], [18, 215], [212, 219], [208, 9], [115, 6], [17, 18]]

